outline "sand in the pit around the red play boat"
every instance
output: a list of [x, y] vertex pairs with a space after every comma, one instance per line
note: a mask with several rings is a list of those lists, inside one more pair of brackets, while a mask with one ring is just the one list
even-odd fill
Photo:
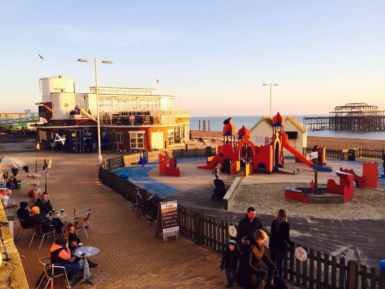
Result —
[[269, 183], [243, 185], [229, 210], [244, 212], [254, 207], [259, 214], [276, 215], [282, 208], [288, 216], [331, 219], [382, 219], [385, 216], [385, 192], [354, 188], [353, 198], [345, 203], [305, 203], [284, 197], [283, 187], [308, 187], [305, 183]]

